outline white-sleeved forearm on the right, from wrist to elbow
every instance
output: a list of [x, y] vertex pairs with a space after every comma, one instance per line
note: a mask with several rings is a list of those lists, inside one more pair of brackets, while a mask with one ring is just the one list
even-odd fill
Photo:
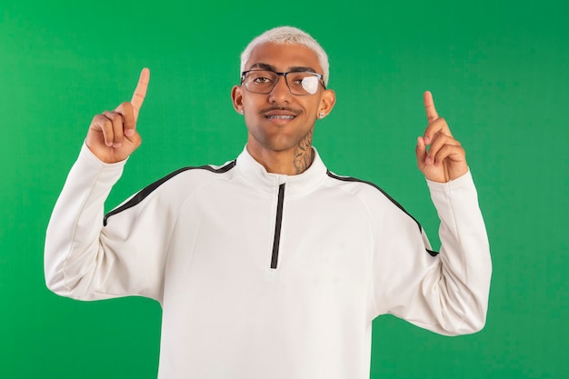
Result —
[[[438, 283], [424, 283], [429, 295], [434, 285], [445, 301], [436, 301], [434, 313], [444, 314], [442, 326], [449, 334], [472, 333], [485, 323], [492, 274], [490, 248], [476, 189], [469, 173], [454, 181], [428, 182], [441, 219], [439, 236], [442, 268]], [[437, 307], [439, 307], [437, 309]]]

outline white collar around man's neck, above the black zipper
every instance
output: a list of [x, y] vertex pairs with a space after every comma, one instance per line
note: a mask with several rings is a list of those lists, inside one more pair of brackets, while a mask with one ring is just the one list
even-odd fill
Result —
[[263, 165], [255, 161], [247, 147], [237, 156], [237, 172], [250, 185], [265, 194], [274, 195], [279, 185], [285, 184], [286, 197], [307, 194], [320, 185], [326, 177], [326, 166], [314, 148], [314, 161], [304, 173], [299, 175], [282, 175], [268, 173]]

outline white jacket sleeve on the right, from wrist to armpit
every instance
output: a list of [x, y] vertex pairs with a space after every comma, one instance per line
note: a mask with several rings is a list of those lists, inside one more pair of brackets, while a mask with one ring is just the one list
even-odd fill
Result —
[[492, 274], [474, 182], [468, 172], [427, 184], [441, 220], [440, 253], [411, 217], [389, 223], [384, 230], [393, 238], [374, 256], [376, 314], [438, 334], [472, 334], [484, 327]]

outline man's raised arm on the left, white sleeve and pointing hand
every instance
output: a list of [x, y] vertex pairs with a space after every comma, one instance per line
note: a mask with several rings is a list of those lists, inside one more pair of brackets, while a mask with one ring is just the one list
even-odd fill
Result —
[[103, 225], [106, 197], [141, 142], [136, 120], [148, 79], [144, 69], [131, 102], [95, 115], [57, 199], [44, 262], [45, 282], [56, 294], [82, 300], [139, 294], [160, 300], [168, 226], [155, 230], [157, 207], [125, 212]]

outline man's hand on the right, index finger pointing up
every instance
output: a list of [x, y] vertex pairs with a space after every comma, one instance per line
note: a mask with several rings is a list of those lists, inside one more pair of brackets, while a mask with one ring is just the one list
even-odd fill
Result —
[[433, 95], [426, 91], [423, 98], [429, 125], [424, 135], [417, 138], [417, 165], [427, 179], [446, 183], [468, 172], [466, 154], [460, 142], [454, 139], [444, 118], [436, 113]]

